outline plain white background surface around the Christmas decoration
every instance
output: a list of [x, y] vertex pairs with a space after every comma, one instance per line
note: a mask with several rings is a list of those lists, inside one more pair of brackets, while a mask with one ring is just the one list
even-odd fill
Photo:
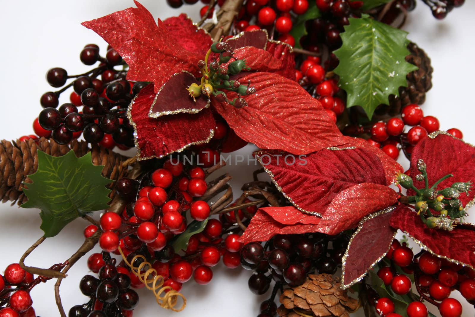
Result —
[[[197, 20], [197, 12], [201, 8], [198, 3], [173, 10], [164, 0], [141, 2], [156, 18], [167, 18], [184, 11]], [[418, 7], [409, 14], [404, 29], [409, 31], [411, 40], [426, 50], [435, 69], [434, 86], [427, 95], [424, 113], [437, 116], [443, 130], [452, 127], [461, 129], [464, 139], [474, 144], [475, 1], [467, 0], [462, 8], [453, 10], [444, 21], [434, 19], [422, 1], [417, 2]], [[39, 97], [52, 90], [44, 79], [49, 68], [64, 67], [70, 74], [88, 70], [89, 67], [79, 60], [79, 52], [87, 43], [99, 44], [104, 56], [104, 41], [82, 27], [80, 22], [131, 6], [132, 0], [1, 1], [0, 102], [3, 111], [0, 115], [0, 138], [12, 140], [33, 133], [31, 123], [41, 110]], [[68, 95], [62, 96], [60, 104], [68, 101]], [[251, 150], [249, 146], [241, 153], [247, 154]], [[400, 161], [405, 168], [408, 167], [405, 159]], [[238, 194], [240, 184], [251, 180], [254, 167], [238, 166], [232, 169], [239, 170], [233, 182]], [[11, 262], [18, 262], [22, 253], [42, 235], [42, 231], [39, 229], [38, 211], [10, 207], [8, 203], [1, 205], [0, 209], [2, 271]], [[474, 219], [471, 217], [472, 222]], [[26, 264], [47, 268], [63, 262], [82, 243], [82, 231], [86, 225], [83, 220], [69, 224], [57, 237], [47, 239], [35, 250]], [[99, 251], [99, 248], [96, 246], [94, 250]], [[63, 281], [62, 299], [66, 312], [69, 307], [86, 300], [78, 288], [79, 279], [87, 274], [86, 259], [87, 256], [79, 260]], [[249, 271], [229, 270], [221, 264], [213, 271], [214, 278], [207, 286], [199, 286], [193, 281], [184, 285], [182, 293], [188, 299], [188, 305], [180, 316], [257, 316], [259, 304], [266, 297], [257, 297], [248, 290]], [[32, 291], [33, 306], [39, 316], [58, 316], [53, 284], [49, 281]], [[147, 290], [142, 289], [139, 293], [140, 304], [134, 316], [175, 315], [157, 307]], [[466, 308], [463, 316], [474, 316], [473, 307]]]

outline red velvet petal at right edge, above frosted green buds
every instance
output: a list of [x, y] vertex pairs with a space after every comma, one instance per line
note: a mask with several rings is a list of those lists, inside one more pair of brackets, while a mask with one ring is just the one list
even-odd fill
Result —
[[[431, 134], [414, 147], [411, 153], [410, 175], [414, 180], [414, 186], [423, 188], [424, 182], [418, 182], [414, 178], [419, 174], [417, 169], [418, 159], [424, 160], [427, 165], [429, 186], [447, 174], [454, 176], [440, 183], [437, 189], [450, 187], [456, 182], [475, 183], [475, 147], [450, 134], [441, 132]], [[408, 194], [414, 195], [414, 192], [410, 190]], [[465, 206], [474, 199], [474, 196], [475, 191], [471, 190], [468, 195], [464, 192], [458, 198]], [[473, 205], [473, 202], [467, 208], [471, 205]]]

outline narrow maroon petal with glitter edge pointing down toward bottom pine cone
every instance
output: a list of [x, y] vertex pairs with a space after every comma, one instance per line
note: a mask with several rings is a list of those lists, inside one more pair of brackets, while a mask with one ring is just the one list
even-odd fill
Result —
[[342, 258], [342, 288], [358, 283], [388, 253], [396, 235], [389, 224], [393, 210], [375, 212], [358, 225]]

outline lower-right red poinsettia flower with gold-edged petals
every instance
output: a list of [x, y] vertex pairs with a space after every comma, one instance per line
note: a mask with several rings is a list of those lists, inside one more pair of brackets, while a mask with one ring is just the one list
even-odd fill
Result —
[[[264, 241], [278, 233], [334, 235], [357, 227], [342, 259], [342, 285], [346, 288], [360, 281], [386, 255], [398, 229], [422, 249], [475, 269], [475, 225], [457, 224], [450, 231], [429, 228], [435, 224], [428, 226], [427, 221], [408, 207], [409, 204], [398, 203], [399, 195], [388, 187], [392, 182], [387, 178], [387, 172], [392, 171], [395, 180], [394, 166], [382, 163], [370, 149], [326, 149], [307, 155], [306, 164], [278, 164], [277, 157], [283, 162], [285, 153], [277, 156], [275, 151], [257, 152], [277, 188], [295, 207], [259, 209], [240, 240]], [[475, 182], [474, 159], [473, 145], [438, 131], [414, 147], [410, 175], [418, 179], [414, 181], [416, 188], [425, 187], [424, 180], [415, 177], [420, 173], [419, 160], [427, 165], [428, 184], [451, 174], [436, 183], [434, 195], [442, 200], [438, 191], [446, 192], [447, 204], [452, 201], [455, 207], [458, 206], [454, 210], [465, 212], [475, 202], [475, 191], [465, 192], [467, 183]], [[450, 187], [454, 183], [458, 185]], [[447, 187], [458, 190], [447, 190]], [[408, 190], [408, 195], [413, 194]], [[462, 206], [458, 205], [460, 203]], [[452, 223], [447, 217], [439, 220]], [[361, 257], [361, 253], [365, 256]]]

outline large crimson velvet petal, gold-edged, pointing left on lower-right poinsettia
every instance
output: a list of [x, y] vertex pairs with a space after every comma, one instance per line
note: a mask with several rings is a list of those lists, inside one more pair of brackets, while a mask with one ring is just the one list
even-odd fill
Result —
[[301, 157], [279, 151], [257, 151], [279, 190], [295, 207], [323, 214], [342, 190], [359, 183], [386, 183], [380, 159], [365, 149], [324, 149]]

